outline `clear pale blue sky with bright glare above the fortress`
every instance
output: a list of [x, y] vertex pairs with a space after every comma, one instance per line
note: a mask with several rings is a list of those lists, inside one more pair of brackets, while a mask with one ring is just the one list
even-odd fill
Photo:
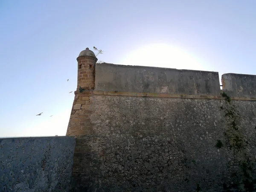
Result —
[[255, 8], [255, 0], [0, 0], [0, 137], [66, 134], [86, 47], [113, 64], [255, 75]]

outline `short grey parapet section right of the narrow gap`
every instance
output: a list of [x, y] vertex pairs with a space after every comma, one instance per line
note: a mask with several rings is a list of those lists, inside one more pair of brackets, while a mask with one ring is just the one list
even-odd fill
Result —
[[256, 97], [256, 76], [227, 73], [221, 76], [221, 81], [229, 96]]

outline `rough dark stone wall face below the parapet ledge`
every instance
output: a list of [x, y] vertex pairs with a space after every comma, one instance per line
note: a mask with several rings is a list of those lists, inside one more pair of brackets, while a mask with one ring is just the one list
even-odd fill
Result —
[[90, 101], [93, 132], [77, 138], [73, 191], [255, 189], [255, 101], [100, 95]]

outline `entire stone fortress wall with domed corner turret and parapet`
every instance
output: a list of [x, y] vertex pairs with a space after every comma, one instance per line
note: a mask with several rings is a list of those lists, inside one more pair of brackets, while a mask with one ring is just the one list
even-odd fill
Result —
[[254, 190], [256, 76], [77, 61], [74, 191]]

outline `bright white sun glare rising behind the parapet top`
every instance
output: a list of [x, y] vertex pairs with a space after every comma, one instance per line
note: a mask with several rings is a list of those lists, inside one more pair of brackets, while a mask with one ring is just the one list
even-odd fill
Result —
[[123, 65], [140, 65], [174, 69], [205, 70], [200, 61], [179, 47], [167, 44], [149, 44], [128, 53]]

